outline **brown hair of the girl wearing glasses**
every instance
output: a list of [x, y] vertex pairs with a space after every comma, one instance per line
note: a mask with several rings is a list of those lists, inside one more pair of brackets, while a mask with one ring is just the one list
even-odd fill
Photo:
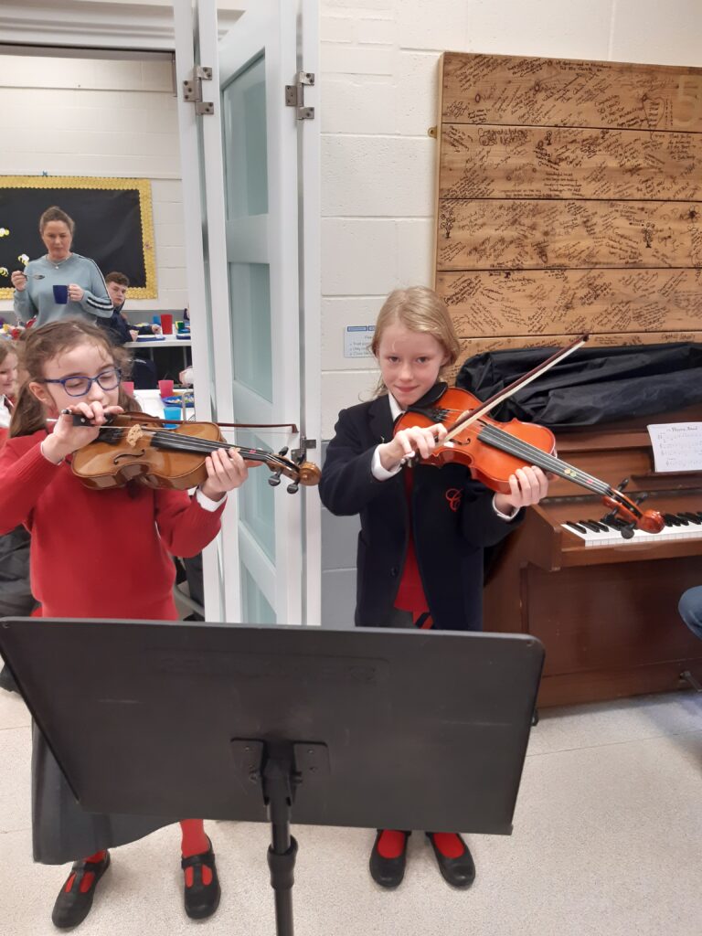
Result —
[[[38, 329], [28, 329], [22, 347], [22, 367], [25, 377], [12, 412], [9, 424], [10, 437], [31, 435], [32, 432], [45, 428], [44, 405], [30, 390], [29, 382], [43, 380], [46, 362], [79, 344], [95, 344], [102, 348], [106, 357], [113, 360], [116, 367], [121, 368], [123, 377], [129, 376], [131, 358], [126, 351], [121, 347], [115, 347], [110, 342], [107, 331], [97, 328], [84, 319], [64, 318], [42, 325]], [[121, 387], [117, 402], [126, 412], [139, 410], [139, 403], [133, 397], [127, 396]]]

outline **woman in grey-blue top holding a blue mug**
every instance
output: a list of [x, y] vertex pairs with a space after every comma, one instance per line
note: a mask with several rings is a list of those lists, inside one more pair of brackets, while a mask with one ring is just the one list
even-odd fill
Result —
[[[30, 260], [22, 273], [12, 273], [14, 309], [22, 322], [37, 317], [46, 325], [67, 315], [95, 322], [110, 318], [112, 300], [95, 260], [71, 253], [76, 225], [73, 218], [55, 205], [39, 218], [39, 234], [47, 249], [45, 256]], [[54, 285], [67, 286], [67, 301], [57, 302]]]

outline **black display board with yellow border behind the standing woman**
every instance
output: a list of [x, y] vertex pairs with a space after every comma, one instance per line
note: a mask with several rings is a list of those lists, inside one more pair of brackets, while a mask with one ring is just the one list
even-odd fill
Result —
[[103, 276], [124, 273], [130, 299], [157, 298], [148, 179], [0, 176], [0, 299], [14, 294], [9, 276], [23, 269], [20, 257], [34, 260], [46, 253], [38, 221], [51, 205], [75, 221], [72, 249], [77, 254], [95, 260]]

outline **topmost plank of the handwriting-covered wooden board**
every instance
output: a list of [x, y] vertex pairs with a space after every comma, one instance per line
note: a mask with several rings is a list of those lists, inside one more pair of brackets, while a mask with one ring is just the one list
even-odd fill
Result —
[[444, 120], [702, 132], [702, 69], [446, 53]]

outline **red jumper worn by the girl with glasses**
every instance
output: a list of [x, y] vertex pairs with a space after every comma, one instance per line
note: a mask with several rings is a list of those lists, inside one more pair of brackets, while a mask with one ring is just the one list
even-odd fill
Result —
[[89, 490], [70, 464], [39, 450], [47, 432], [0, 450], [0, 534], [32, 534], [32, 592], [47, 618], [175, 621], [169, 553], [193, 556], [216, 536], [210, 512], [182, 490]]

